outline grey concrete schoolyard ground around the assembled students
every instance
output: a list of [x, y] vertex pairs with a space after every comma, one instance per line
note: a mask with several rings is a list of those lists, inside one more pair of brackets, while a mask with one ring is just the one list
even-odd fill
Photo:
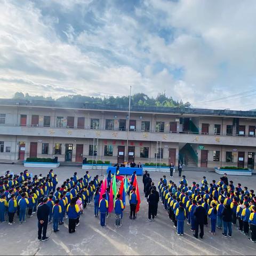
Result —
[[[18, 173], [25, 168], [20, 165], [0, 165], [0, 175], [6, 170]], [[33, 174], [46, 174], [49, 170], [36, 168], [29, 171]], [[59, 181], [63, 181], [77, 171], [78, 176], [84, 174], [81, 167], [59, 167], [54, 170], [58, 174]], [[100, 171], [90, 171], [92, 175], [101, 174]], [[163, 173], [150, 173], [153, 181], [157, 182]], [[166, 174], [166, 173], [165, 173]], [[201, 181], [206, 174], [207, 179], [218, 180], [219, 175], [213, 172], [184, 172], [188, 182]], [[177, 174], [173, 180], [178, 182]], [[256, 176], [229, 177], [235, 183], [256, 190]], [[138, 177], [142, 184], [141, 177]], [[140, 186], [140, 189], [142, 186]], [[141, 194], [143, 199], [143, 191]], [[89, 205], [85, 214], [81, 217], [81, 225], [77, 227], [75, 234], [68, 233], [67, 220], [64, 226], [60, 226], [59, 233], [51, 234], [52, 225], [49, 225], [49, 241], [37, 241], [36, 216], [27, 219], [25, 225], [0, 223], [0, 255], [256, 255], [256, 244], [251, 243], [247, 237], [234, 230], [232, 238], [225, 238], [221, 231], [216, 236], [209, 234], [209, 228], [205, 228], [204, 239], [196, 239], [185, 224], [185, 235], [178, 237], [175, 234], [173, 223], [167, 218], [166, 211], [159, 205], [158, 217], [155, 222], [147, 221], [147, 204], [143, 199], [141, 210], [136, 220], [129, 219], [129, 209], [124, 212], [123, 226], [115, 228], [114, 214], [107, 219], [107, 226], [100, 227], [99, 219], [93, 217], [93, 205]]]

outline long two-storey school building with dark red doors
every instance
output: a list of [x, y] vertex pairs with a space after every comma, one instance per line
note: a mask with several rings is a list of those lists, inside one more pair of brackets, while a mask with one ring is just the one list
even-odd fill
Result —
[[256, 112], [0, 99], [0, 159], [254, 169]]

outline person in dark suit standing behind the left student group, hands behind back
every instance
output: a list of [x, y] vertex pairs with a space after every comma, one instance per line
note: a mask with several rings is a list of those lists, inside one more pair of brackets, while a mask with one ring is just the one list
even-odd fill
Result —
[[[38, 219], [38, 241], [46, 241], [49, 237], [46, 236], [47, 225], [49, 220], [50, 208], [46, 204], [47, 198], [43, 199], [43, 204], [38, 206], [37, 219]], [[42, 237], [43, 230], [43, 237]]]

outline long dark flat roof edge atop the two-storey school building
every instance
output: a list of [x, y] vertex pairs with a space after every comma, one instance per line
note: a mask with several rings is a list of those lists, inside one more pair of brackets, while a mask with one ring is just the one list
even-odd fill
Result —
[[[115, 105], [103, 106], [93, 103], [68, 102], [68, 101], [50, 101], [50, 100], [23, 100], [23, 99], [0, 99], [0, 106], [29, 106], [42, 108], [59, 109], [84, 109], [84, 110], [107, 110], [107, 111], [129, 111], [128, 106]], [[191, 116], [225, 116], [225, 117], [244, 117], [256, 118], [256, 111], [242, 111], [229, 109], [202, 109], [185, 107], [149, 107], [149, 106], [131, 106], [131, 112], [151, 113], [151, 114], [177, 114]]]

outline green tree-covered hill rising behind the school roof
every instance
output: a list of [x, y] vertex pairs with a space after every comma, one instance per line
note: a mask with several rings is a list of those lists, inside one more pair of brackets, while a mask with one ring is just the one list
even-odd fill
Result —
[[[43, 96], [33, 96], [28, 93], [23, 94], [22, 92], [16, 92], [13, 99], [25, 99], [25, 100], [55, 100], [62, 102], [83, 102], [83, 103], [94, 103], [103, 106], [113, 106], [113, 105], [129, 105], [129, 96], [122, 97], [89, 97], [84, 95], [68, 95], [63, 96], [58, 99], [53, 99], [52, 97]], [[159, 93], [156, 98], [148, 97], [145, 93], [136, 93], [131, 97], [131, 106], [157, 106], [157, 107], [190, 107], [190, 103], [183, 103], [182, 100], [175, 101], [172, 97], [167, 97], [165, 93]]]

